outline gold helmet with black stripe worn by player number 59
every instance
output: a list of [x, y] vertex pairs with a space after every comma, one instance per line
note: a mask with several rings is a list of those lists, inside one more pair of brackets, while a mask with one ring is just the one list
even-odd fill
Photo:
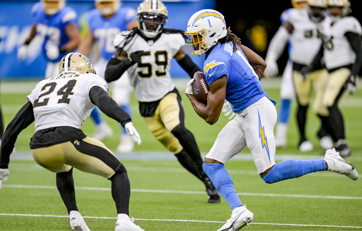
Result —
[[137, 8], [137, 28], [147, 38], [155, 38], [167, 22], [167, 8], [160, 0], [145, 0]]

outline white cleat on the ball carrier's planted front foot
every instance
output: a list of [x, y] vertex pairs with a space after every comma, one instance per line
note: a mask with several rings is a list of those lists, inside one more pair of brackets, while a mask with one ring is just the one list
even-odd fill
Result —
[[246, 205], [237, 207], [233, 210], [231, 218], [218, 231], [240, 230], [249, 223], [254, 222], [253, 213], [247, 209]]

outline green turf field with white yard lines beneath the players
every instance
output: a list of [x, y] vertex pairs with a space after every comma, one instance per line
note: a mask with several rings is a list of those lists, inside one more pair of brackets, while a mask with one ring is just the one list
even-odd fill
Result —
[[[183, 85], [186, 86], [187, 79]], [[182, 82], [182, 81], [181, 81]], [[1, 109], [7, 125], [25, 104], [36, 82], [1, 82]], [[278, 80], [262, 80], [271, 99], [279, 100]], [[205, 155], [216, 135], [227, 123], [220, 115], [215, 125], [208, 125], [193, 111], [179, 87], [186, 114], [186, 127], [195, 135]], [[181, 167], [176, 158], [153, 138], [140, 117], [132, 96], [133, 121], [142, 144], [134, 153], [117, 153], [117, 122], [104, 115], [114, 135], [104, 143], [126, 166], [131, 181], [130, 216], [144, 230], [217, 230], [230, 218], [230, 207], [224, 199], [208, 204], [203, 184]], [[278, 106], [278, 105], [277, 105]], [[347, 161], [362, 171], [362, 89], [346, 95], [340, 102], [345, 118], [346, 138], [352, 149]], [[315, 149], [300, 153], [295, 119], [296, 103], [289, 122], [288, 147], [279, 148], [276, 162], [294, 159], [318, 159], [316, 132], [319, 121], [308, 110], [307, 135]], [[82, 126], [92, 135], [94, 126], [88, 118]], [[10, 175], [0, 191], [0, 230], [71, 230], [67, 210], [55, 186], [55, 174], [38, 166], [29, 148], [34, 125], [22, 131], [10, 156]], [[362, 179], [318, 172], [274, 184], [266, 184], [258, 176], [250, 151], [243, 150], [226, 163], [240, 199], [254, 213], [254, 223], [243, 230], [362, 230]], [[90, 230], [114, 230], [116, 210], [110, 193], [110, 181], [100, 176], [74, 170], [77, 204]]]

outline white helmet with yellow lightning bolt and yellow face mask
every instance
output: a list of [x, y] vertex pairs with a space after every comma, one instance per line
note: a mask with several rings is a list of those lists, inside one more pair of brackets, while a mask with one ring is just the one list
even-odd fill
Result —
[[227, 34], [224, 16], [216, 10], [206, 9], [194, 13], [187, 23], [187, 48], [192, 55], [202, 56]]

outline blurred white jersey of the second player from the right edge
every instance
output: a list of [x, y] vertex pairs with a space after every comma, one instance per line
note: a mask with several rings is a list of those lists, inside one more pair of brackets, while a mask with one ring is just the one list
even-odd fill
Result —
[[289, 36], [290, 59], [298, 64], [310, 65], [322, 44], [317, 24], [309, 18], [306, 9], [287, 9], [281, 20], [290, 22], [294, 27]]

